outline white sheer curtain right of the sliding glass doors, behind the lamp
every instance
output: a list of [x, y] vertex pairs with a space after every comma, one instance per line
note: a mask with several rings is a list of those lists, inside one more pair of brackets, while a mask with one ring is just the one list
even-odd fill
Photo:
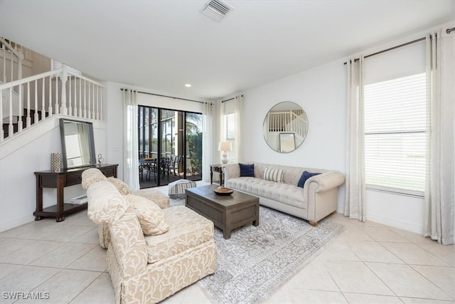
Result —
[[210, 182], [210, 164], [218, 163], [218, 137], [217, 137], [217, 106], [213, 103], [204, 103], [203, 111], [203, 181]]

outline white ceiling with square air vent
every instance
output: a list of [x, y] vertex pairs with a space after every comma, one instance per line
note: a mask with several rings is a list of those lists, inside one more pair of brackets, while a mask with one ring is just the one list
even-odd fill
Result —
[[0, 0], [0, 36], [100, 80], [215, 99], [455, 19], [455, 0], [226, 0], [218, 23], [207, 2]]

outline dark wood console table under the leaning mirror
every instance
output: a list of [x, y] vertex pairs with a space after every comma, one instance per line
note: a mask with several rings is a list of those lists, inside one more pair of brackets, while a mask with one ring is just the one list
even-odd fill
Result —
[[[61, 169], [60, 172], [50, 170], [35, 172], [36, 176], [36, 211], [35, 221], [44, 217], [55, 217], [55, 221], [65, 221], [65, 216], [87, 209], [87, 203], [68, 204], [64, 202], [63, 189], [82, 182], [82, 172], [89, 168], [98, 168], [107, 177], [117, 177], [118, 164], [102, 164], [100, 166]], [[57, 204], [43, 209], [43, 188], [57, 189]]]

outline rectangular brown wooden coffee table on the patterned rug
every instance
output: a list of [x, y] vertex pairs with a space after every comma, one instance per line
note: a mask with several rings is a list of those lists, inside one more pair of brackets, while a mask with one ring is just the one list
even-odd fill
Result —
[[186, 189], [186, 206], [205, 216], [223, 231], [223, 237], [230, 239], [232, 230], [252, 223], [259, 225], [259, 198], [234, 191], [222, 196], [215, 194], [216, 185]]

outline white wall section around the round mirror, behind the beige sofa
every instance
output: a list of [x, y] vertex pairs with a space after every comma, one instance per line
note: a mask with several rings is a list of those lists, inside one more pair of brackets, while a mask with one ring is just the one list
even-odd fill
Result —
[[[245, 161], [286, 164], [345, 172], [346, 77], [343, 61], [276, 80], [245, 96], [242, 133]], [[293, 152], [274, 152], [264, 140], [262, 125], [267, 112], [282, 101], [301, 106], [309, 120], [306, 140]], [[344, 187], [338, 194], [338, 210], [344, 206]]]

